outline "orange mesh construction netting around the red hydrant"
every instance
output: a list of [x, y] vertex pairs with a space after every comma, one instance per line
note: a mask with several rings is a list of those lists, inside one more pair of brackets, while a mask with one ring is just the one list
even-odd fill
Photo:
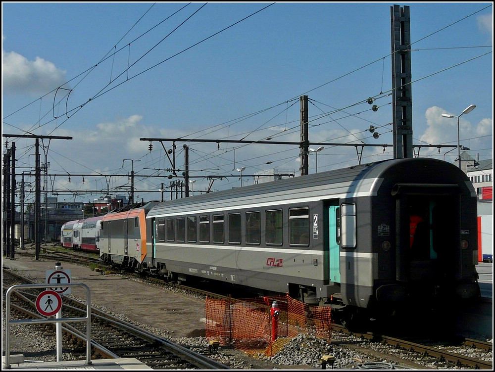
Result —
[[[272, 304], [278, 304], [276, 320]], [[206, 337], [220, 345], [275, 355], [299, 333], [330, 339], [330, 307], [310, 306], [289, 295], [248, 299], [206, 299]]]

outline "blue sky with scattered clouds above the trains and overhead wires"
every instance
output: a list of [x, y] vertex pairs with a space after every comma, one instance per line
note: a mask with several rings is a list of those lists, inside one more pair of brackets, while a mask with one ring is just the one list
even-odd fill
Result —
[[[44, 145], [49, 174], [100, 175], [84, 183], [50, 177], [49, 190], [79, 191], [59, 196], [76, 201], [104, 194], [107, 185], [125, 194], [131, 163], [138, 175], [170, 174], [160, 143], [149, 152], [140, 138], [299, 141], [302, 94], [310, 99], [311, 142], [392, 144], [393, 4], [2, 2], [2, 133], [73, 137]], [[476, 104], [460, 118], [461, 144], [473, 157], [492, 158], [492, 2], [398, 5], [411, 14], [414, 144], [455, 145], [457, 121], [441, 114]], [[364, 102], [372, 96], [379, 97], [376, 112]], [[18, 172], [29, 170], [34, 140], [11, 141]], [[180, 169], [183, 144], [176, 142]], [[233, 176], [213, 189], [239, 186], [243, 166], [244, 175], [300, 174], [297, 146], [187, 144], [191, 176]], [[450, 149], [420, 155], [454, 162]], [[363, 162], [391, 157], [392, 147], [363, 152]], [[310, 173], [315, 160], [311, 154]], [[318, 172], [357, 162], [353, 146], [326, 146]], [[109, 174], [124, 177], [105, 180]], [[161, 182], [170, 180], [137, 177], [139, 199], [159, 198]], [[198, 178], [194, 189], [208, 184]]]

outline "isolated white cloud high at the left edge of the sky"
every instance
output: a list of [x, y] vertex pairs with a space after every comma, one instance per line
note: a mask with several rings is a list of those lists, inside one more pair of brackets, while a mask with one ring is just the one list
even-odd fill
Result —
[[16, 52], [2, 51], [2, 59], [4, 93], [45, 94], [66, 82], [65, 71], [43, 58], [29, 61]]

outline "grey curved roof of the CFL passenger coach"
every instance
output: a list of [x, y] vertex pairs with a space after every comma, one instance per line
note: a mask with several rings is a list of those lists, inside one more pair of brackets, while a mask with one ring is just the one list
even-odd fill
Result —
[[[411, 170], [409, 167], [412, 167]], [[439, 167], [442, 172], [439, 172]], [[445, 173], [448, 170], [448, 176]], [[452, 164], [431, 158], [389, 159], [349, 168], [321, 172], [252, 186], [236, 187], [155, 205], [148, 218], [240, 207], [310, 202], [329, 198], [376, 195], [383, 178], [396, 182], [428, 182], [433, 176], [450, 177], [460, 170]], [[412, 174], [411, 174], [412, 173]], [[442, 173], [439, 175], [439, 173]], [[395, 177], [396, 176], [396, 177]], [[460, 180], [459, 175], [455, 176]], [[465, 175], [464, 175], [465, 177]], [[440, 179], [438, 180], [440, 181]], [[437, 182], [438, 182], [437, 181]]]

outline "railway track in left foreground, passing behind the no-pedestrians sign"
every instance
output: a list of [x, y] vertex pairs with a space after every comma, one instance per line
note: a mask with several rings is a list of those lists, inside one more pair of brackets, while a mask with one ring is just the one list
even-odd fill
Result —
[[[32, 283], [31, 280], [3, 271], [4, 283]], [[12, 284], [13, 285], [13, 284]], [[6, 288], [3, 287], [5, 291]], [[16, 291], [11, 306], [19, 314], [39, 317], [35, 313], [36, 294], [32, 291]], [[18, 294], [18, 295], [17, 295]], [[64, 297], [62, 313], [64, 318], [79, 318], [86, 312], [86, 304]], [[153, 369], [230, 369], [229, 367], [191, 351], [181, 345], [157, 336], [131, 323], [122, 321], [100, 310], [91, 309], [92, 353], [103, 358], [136, 358]], [[75, 345], [74, 353], [84, 354], [85, 327], [63, 324], [63, 331], [70, 336]]]

